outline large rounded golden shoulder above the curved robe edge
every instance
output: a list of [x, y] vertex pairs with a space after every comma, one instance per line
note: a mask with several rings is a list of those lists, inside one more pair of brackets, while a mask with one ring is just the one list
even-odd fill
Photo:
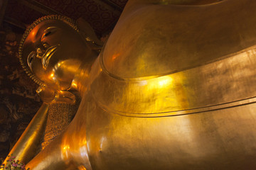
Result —
[[246, 6], [151, 5], [124, 13], [103, 64], [119, 77], [148, 77], [219, 60], [256, 44], [256, 3]]

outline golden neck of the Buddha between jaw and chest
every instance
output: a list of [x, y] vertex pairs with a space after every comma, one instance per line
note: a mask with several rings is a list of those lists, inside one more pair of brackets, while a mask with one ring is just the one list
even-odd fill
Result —
[[85, 91], [87, 90], [87, 82], [90, 75], [90, 69], [96, 58], [97, 54], [95, 52], [92, 52], [90, 60], [82, 62], [71, 84], [71, 89], [79, 91], [81, 97], [83, 96], [83, 94], [85, 94]]

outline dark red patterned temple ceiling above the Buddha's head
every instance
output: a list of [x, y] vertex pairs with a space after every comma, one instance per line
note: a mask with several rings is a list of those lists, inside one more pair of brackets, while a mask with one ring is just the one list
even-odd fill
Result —
[[98, 35], [109, 33], [122, 13], [127, 0], [8, 0], [4, 21], [20, 28], [41, 16], [65, 15], [74, 20], [82, 17]]

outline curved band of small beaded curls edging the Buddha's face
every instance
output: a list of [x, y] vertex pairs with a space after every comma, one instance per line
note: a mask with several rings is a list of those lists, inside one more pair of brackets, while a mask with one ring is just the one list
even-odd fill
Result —
[[38, 84], [39, 86], [46, 86], [46, 84], [31, 72], [31, 69], [28, 67], [26, 60], [24, 60], [22, 57], [22, 55], [23, 55], [22, 51], [23, 51], [23, 43], [25, 42], [26, 38], [28, 37], [28, 34], [31, 33], [31, 30], [33, 30], [33, 28], [35, 28], [38, 25], [38, 23], [41, 23], [46, 20], [63, 21], [64, 23], [67, 23], [70, 27], [72, 27], [74, 30], [79, 31], [78, 26], [75, 25], [75, 21], [73, 21], [71, 18], [68, 18], [67, 16], [60, 16], [60, 15], [49, 15], [49, 16], [43, 16], [41, 18], [38, 18], [36, 21], [34, 21], [31, 24], [31, 26], [29, 26], [25, 30], [25, 33], [23, 34], [23, 37], [21, 38], [21, 42], [18, 47], [17, 55], [18, 55], [19, 61], [21, 62], [21, 67], [24, 69], [26, 74], [28, 74], [28, 76], [31, 77], [31, 79], [33, 79], [33, 81], [35, 81], [36, 84]]

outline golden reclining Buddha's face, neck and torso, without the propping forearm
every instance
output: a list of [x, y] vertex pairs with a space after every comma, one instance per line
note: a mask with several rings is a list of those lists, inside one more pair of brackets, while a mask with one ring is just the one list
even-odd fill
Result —
[[255, 169], [255, 8], [130, 0], [99, 56], [64, 21], [34, 23], [21, 41], [23, 66], [42, 87], [77, 90], [82, 101], [26, 166]]

